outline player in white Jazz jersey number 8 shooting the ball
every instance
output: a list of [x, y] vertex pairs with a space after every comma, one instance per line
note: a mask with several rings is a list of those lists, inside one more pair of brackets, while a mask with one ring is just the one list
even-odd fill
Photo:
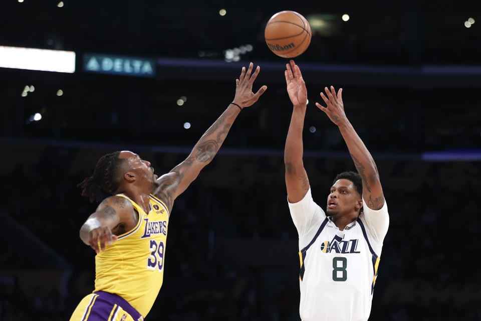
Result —
[[[374, 160], [344, 113], [342, 89], [325, 87], [316, 103], [339, 130], [358, 173], [339, 174], [327, 193], [326, 213], [312, 198], [304, 169], [302, 130], [306, 84], [294, 63], [286, 65], [294, 105], [284, 162], [292, 220], [299, 233], [300, 314], [303, 321], [361, 321], [371, 311], [382, 242], [389, 226], [386, 201]], [[326, 191], [315, 191], [317, 195]]]

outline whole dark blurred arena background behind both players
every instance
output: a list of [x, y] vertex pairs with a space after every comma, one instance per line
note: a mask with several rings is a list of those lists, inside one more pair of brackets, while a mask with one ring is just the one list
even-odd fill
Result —
[[[268, 90], [175, 201], [147, 320], [299, 320], [283, 164], [287, 60], [264, 42], [281, 10], [313, 29], [296, 62], [310, 100], [304, 163], [315, 201], [325, 208], [335, 174], [354, 170], [314, 106], [324, 86], [344, 89], [379, 169], [390, 227], [370, 320], [481, 319], [478, 2], [3, 0], [0, 46], [74, 51], [76, 68], [0, 68], [1, 321], [70, 317], [94, 280], [94, 251], [78, 232], [96, 206], [76, 185], [122, 149], [168, 172], [232, 100], [250, 61], [261, 66], [255, 89]], [[92, 57], [137, 57], [155, 74], [89, 72]]]

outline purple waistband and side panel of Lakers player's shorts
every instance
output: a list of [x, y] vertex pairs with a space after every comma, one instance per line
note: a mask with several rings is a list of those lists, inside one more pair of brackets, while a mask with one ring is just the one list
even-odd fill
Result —
[[[105, 321], [108, 319], [114, 304], [120, 306], [125, 312], [129, 313], [134, 320], [142, 320], [143, 316], [140, 314], [129, 302], [117, 294], [98, 291], [97, 300], [92, 306], [89, 318], [86, 321]], [[98, 302], [98, 303], [97, 303]], [[94, 310], [95, 309], [95, 310]], [[95, 312], [95, 313], [94, 313]], [[116, 312], [116, 311], [115, 311]], [[114, 313], [115, 313], [114, 312]], [[94, 315], [92, 315], [94, 313]], [[92, 318], [91, 318], [92, 316]]]

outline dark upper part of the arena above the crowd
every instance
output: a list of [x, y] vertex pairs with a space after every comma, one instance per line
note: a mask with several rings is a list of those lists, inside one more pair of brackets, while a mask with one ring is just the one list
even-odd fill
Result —
[[[479, 148], [478, 2], [58, 4], [0, 4], [0, 45], [77, 53], [74, 74], [0, 69], [0, 116], [8, 119], [3, 139], [192, 145], [231, 101], [240, 66], [254, 61], [261, 65], [255, 86], [269, 89], [243, 112], [238, 126], [248, 130], [234, 130], [230, 143], [282, 149], [291, 112], [283, 76], [287, 60], [267, 48], [264, 28], [276, 12], [294, 10], [328, 26], [314, 31], [310, 47], [296, 58], [309, 98], [318, 100], [326, 85], [344, 87], [347, 114], [373, 148], [407, 153]], [[342, 21], [343, 14], [349, 21]], [[463, 24], [468, 18], [477, 21], [471, 28]], [[253, 50], [239, 62], [224, 62], [225, 50], [247, 44]], [[160, 59], [157, 76], [88, 74], [82, 71], [84, 53]], [[466, 68], [442, 69], [459, 65]], [[36, 91], [21, 97], [25, 85]], [[58, 89], [62, 97], [55, 95]], [[180, 96], [188, 98], [182, 107], [175, 103]], [[36, 112], [42, 121], [29, 123]], [[307, 147], [345, 148], [322, 112], [312, 107], [308, 117], [306, 125], [317, 131], [306, 132]], [[189, 130], [182, 127], [186, 121], [192, 123]]]

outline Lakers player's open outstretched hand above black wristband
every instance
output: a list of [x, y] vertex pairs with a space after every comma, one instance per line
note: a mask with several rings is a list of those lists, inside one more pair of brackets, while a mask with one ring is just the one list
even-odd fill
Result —
[[239, 79], [235, 79], [235, 96], [232, 102], [236, 103], [241, 108], [249, 107], [254, 104], [267, 89], [267, 86], [264, 85], [257, 91], [257, 93], [252, 92], [254, 80], [256, 80], [256, 77], [261, 70], [261, 68], [257, 66], [256, 70], [251, 76], [253, 67], [254, 64], [252, 62], [249, 64], [249, 69], [247, 72], [246, 67], [242, 67], [242, 72], [240, 72]]

